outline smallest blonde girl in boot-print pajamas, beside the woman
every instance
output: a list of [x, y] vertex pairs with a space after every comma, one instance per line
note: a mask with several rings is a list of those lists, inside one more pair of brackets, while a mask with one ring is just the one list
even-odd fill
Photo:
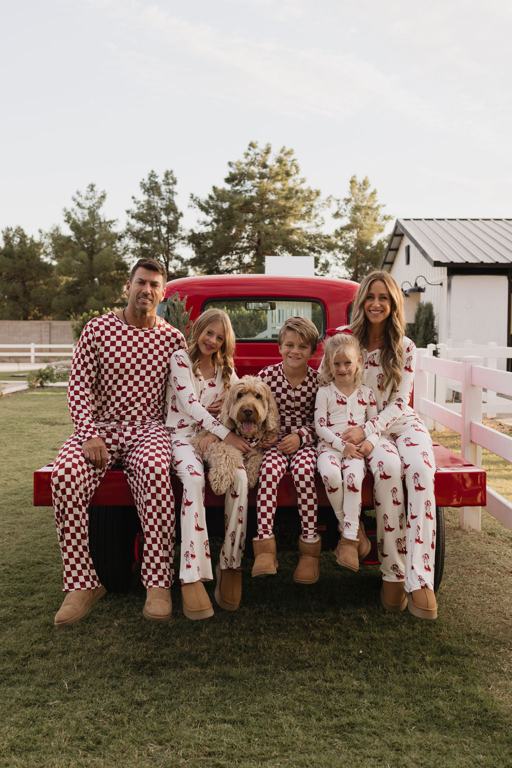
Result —
[[[370, 542], [359, 522], [361, 491], [366, 468], [363, 453], [341, 435], [348, 426], [362, 426], [375, 419], [377, 407], [369, 387], [362, 383], [362, 354], [349, 330], [335, 333], [325, 342], [325, 356], [315, 402], [315, 430], [319, 436], [317, 469], [329, 495], [338, 529], [336, 560], [358, 571], [359, 558], [370, 551]], [[365, 455], [378, 442], [378, 432], [365, 440]]]

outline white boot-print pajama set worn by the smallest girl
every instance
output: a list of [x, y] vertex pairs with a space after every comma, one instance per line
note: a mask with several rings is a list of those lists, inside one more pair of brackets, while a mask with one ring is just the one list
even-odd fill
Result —
[[[316, 393], [315, 430], [319, 438], [316, 468], [338, 519], [338, 530], [349, 538], [358, 535], [366, 465], [364, 458], [343, 456], [346, 442], [341, 435], [348, 427], [362, 427], [377, 415], [375, 397], [367, 386], [358, 387], [347, 397], [331, 382]], [[378, 432], [368, 440], [375, 445]]]

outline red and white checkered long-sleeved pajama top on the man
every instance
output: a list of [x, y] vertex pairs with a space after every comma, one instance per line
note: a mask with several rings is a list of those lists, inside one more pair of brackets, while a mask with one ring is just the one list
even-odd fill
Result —
[[170, 357], [186, 349], [180, 331], [160, 323], [129, 326], [109, 312], [85, 326], [68, 386], [68, 406], [82, 441], [97, 437], [97, 422], [162, 421]]

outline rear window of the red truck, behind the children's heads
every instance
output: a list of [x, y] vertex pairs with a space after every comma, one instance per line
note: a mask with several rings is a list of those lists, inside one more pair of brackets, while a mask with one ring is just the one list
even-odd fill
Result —
[[237, 340], [276, 341], [283, 323], [293, 316], [307, 317], [315, 323], [319, 336], [325, 331], [322, 304], [305, 299], [212, 299], [204, 310], [224, 310], [231, 320]]

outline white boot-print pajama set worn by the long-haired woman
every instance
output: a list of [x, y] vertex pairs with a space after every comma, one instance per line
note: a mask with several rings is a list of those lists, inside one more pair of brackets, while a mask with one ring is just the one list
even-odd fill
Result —
[[[415, 343], [404, 336], [402, 379], [398, 390], [380, 389], [380, 349], [362, 350], [365, 384], [377, 400], [378, 419], [367, 425], [381, 441], [368, 456], [374, 477], [378, 554], [385, 581], [405, 580], [405, 591], [434, 589], [435, 495], [434, 452], [428, 429], [409, 406], [416, 362]], [[408, 489], [406, 522], [401, 478]]]

